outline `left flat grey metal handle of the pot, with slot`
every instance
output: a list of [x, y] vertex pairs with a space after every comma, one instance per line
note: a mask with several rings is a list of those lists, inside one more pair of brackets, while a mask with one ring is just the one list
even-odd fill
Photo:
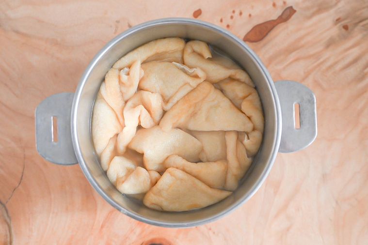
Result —
[[36, 147], [46, 160], [60, 164], [78, 163], [71, 138], [71, 108], [74, 93], [57, 93], [36, 108]]

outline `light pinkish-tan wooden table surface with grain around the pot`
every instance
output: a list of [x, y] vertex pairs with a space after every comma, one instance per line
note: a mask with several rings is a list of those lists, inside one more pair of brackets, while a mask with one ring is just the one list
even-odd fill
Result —
[[[78, 165], [51, 164], [35, 148], [35, 107], [49, 95], [75, 91], [114, 36], [162, 17], [197, 17], [240, 38], [277, 19], [255, 27], [247, 44], [275, 81], [299, 81], [317, 97], [316, 141], [279, 153], [267, 181], [239, 209], [189, 229], [119, 213]], [[367, 91], [367, 0], [3, 0], [0, 243], [367, 244]]]

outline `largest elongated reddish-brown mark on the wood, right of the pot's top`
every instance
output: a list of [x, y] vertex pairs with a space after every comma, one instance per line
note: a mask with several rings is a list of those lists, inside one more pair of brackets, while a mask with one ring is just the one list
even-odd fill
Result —
[[261, 24], [254, 26], [243, 37], [244, 42], [255, 43], [261, 41], [267, 34], [278, 24], [288, 21], [296, 12], [292, 6], [287, 7], [277, 19], [268, 20]]

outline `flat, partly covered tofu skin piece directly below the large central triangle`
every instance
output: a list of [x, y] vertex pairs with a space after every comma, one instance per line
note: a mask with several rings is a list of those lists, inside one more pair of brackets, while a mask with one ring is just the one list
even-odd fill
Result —
[[203, 146], [199, 153], [202, 162], [226, 160], [225, 131], [190, 131]]

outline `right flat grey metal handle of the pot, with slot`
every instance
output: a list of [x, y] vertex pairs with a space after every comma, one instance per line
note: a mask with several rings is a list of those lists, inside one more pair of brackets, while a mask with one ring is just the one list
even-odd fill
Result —
[[[317, 137], [316, 96], [301, 83], [275, 82], [282, 114], [280, 153], [291, 153], [309, 146]], [[295, 104], [299, 104], [300, 128], [295, 126]]]

